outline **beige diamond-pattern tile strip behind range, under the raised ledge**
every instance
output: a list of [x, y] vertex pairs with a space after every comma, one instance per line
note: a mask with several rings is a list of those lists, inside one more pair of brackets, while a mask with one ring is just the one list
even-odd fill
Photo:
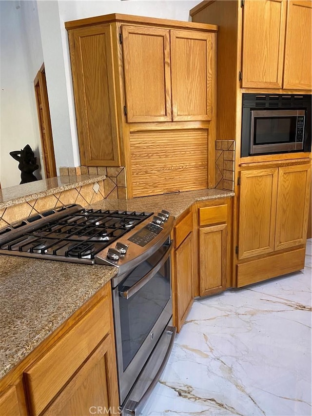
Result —
[[[107, 179], [99, 180], [95, 183], [87, 183], [77, 188], [67, 189], [58, 194], [48, 195], [37, 199], [32, 199], [27, 202], [23, 202], [17, 205], [9, 206], [0, 210], [0, 228], [5, 227], [12, 222], [18, 221], [22, 218], [27, 218], [31, 215], [35, 215], [41, 211], [49, 208], [56, 208], [65, 204], [77, 203], [83, 207], [98, 202], [104, 198], [107, 198], [112, 194], [112, 191], [117, 188], [114, 184], [114, 189], [111, 189], [109, 194], [105, 193], [104, 182]], [[95, 184], [98, 186], [95, 186]], [[95, 189], [98, 192], [95, 191]], [[116, 190], [117, 195], [117, 190]], [[113, 198], [113, 193], [110, 198]], [[117, 198], [117, 196], [116, 196]]]

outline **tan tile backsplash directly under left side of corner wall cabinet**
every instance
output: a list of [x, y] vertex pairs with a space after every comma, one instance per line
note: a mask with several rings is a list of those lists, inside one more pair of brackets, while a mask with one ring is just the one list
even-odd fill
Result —
[[60, 176], [106, 175], [104, 188], [106, 198], [127, 199], [126, 168], [124, 166], [78, 166], [59, 168]]

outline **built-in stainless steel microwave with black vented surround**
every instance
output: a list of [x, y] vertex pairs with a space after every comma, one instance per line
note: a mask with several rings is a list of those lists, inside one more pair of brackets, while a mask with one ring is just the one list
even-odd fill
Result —
[[312, 96], [243, 94], [241, 156], [311, 151]]

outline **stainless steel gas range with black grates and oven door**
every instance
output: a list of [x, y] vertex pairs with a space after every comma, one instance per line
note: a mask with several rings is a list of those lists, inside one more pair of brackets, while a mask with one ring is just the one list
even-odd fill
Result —
[[0, 230], [0, 254], [114, 265], [112, 278], [119, 399], [138, 415], [170, 355], [173, 218], [154, 213], [47, 210]]

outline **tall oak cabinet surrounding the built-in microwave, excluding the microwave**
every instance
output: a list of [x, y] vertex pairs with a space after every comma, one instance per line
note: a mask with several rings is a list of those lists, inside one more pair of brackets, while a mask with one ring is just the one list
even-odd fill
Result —
[[235, 140], [233, 284], [304, 266], [311, 152], [241, 156], [242, 95], [311, 94], [312, 1], [202, 1], [218, 25], [216, 139]]

